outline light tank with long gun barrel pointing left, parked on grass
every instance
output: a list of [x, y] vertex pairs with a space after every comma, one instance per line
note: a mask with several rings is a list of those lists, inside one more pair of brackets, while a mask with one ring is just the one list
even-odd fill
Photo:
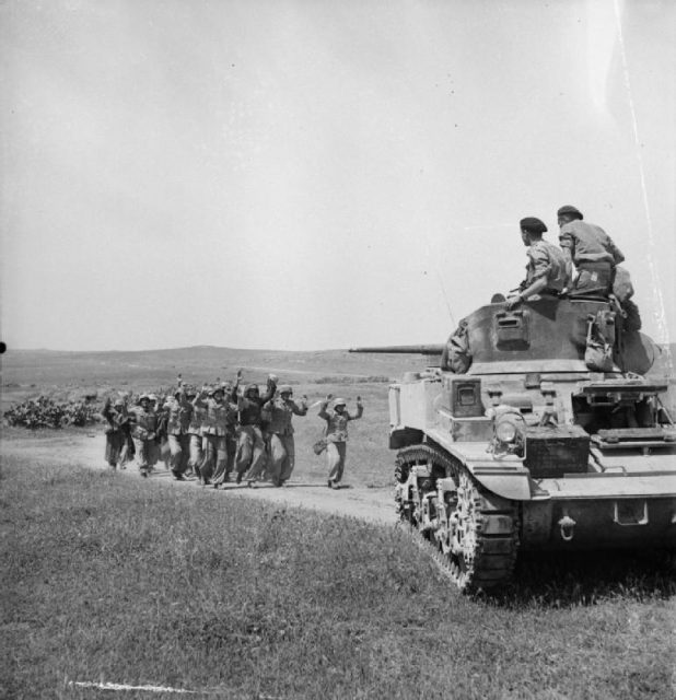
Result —
[[478, 308], [389, 387], [395, 503], [466, 593], [520, 552], [676, 549], [676, 427], [656, 346], [606, 299]]

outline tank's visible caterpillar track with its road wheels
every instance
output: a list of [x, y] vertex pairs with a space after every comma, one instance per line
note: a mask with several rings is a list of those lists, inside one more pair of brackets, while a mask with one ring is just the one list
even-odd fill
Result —
[[[427, 466], [421, 493], [416, 465]], [[518, 508], [485, 489], [457, 459], [432, 444], [404, 447], [395, 463], [401, 521], [420, 532], [427, 549], [463, 593], [502, 586], [514, 571], [518, 549]], [[451, 478], [453, 491], [436, 489], [440, 478]], [[434, 513], [424, 511], [424, 495], [436, 490]], [[442, 503], [441, 500], [444, 499]], [[424, 511], [424, 512], [423, 512]]]

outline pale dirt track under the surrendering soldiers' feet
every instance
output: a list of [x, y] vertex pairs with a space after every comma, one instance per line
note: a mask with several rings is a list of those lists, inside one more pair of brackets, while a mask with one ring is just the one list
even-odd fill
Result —
[[[53, 464], [79, 464], [92, 469], [105, 469], [103, 462], [102, 436], [72, 435], [54, 440], [35, 440], [32, 438], [2, 441], [2, 454], [22, 457], [36, 457]], [[119, 471], [120, 477], [140, 479], [133, 464]], [[361, 520], [395, 524], [392, 488], [365, 488], [348, 485], [340, 489], [329, 489], [322, 478], [304, 479], [291, 477], [288, 485], [275, 488], [263, 483], [254, 488], [228, 483], [215, 490], [211, 487], [200, 487], [196, 480], [174, 481], [164, 465], [160, 463], [150, 477], [158, 486], [175, 489], [200, 489], [213, 493], [214, 498], [254, 498], [270, 501], [276, 504], [306, 508], [337, 515], [349, 515]]]

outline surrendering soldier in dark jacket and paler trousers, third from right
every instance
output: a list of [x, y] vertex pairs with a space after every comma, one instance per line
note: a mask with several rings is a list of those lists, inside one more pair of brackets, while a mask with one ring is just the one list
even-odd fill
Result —
[[270, 374], [268, 375], [266, 393], [263, 396], [260, 396], [256, 384], [248, 384], [244, 388], [244, 395], [237, 399], [240, 434], [237, 436], [235, 468], [238, 481], [242, 480], [242, 475], [246, 472], [247, 482], [253, 482], [260, 478], [265, 468], [261, 409], [275, 396], [276, 389], [277, 377]]

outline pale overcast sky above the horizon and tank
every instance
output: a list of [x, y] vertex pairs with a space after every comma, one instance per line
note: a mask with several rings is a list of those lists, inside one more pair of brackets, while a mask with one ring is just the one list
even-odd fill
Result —
[[2, 339], [441, 342], [575, 205], [676, 341], [672, 0], [4, 0]]

